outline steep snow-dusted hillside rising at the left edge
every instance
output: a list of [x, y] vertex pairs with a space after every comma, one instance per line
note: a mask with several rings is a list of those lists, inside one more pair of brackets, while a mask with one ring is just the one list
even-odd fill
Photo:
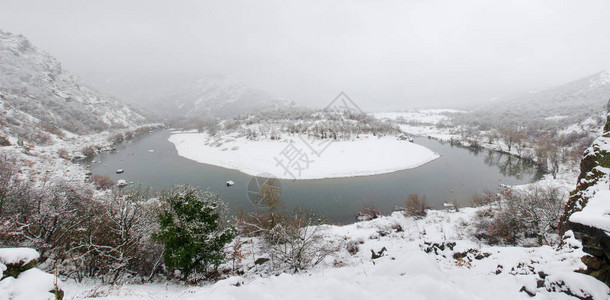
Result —
[[100, 132], [145, 121], [134, 108], [62, 70], [25, 37], [5, 31], [0, 31], [0, 107], [2, 134], [43, 144], [49, 134]]

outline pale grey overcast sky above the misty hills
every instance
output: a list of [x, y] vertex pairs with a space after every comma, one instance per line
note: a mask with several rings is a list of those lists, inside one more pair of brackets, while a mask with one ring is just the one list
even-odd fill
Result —
[[448, 106], [610, 69], [610, 1], [0, 0], [87, 79], [225, 74], [298, 103]]

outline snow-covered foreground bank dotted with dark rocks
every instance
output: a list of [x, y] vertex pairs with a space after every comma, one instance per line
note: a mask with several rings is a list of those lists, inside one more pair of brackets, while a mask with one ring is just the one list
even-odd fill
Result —
[[[67, 299], [607, 299], [584, 265], [570, 233], [562, 247], [497, 247], [471, 241], [477, 209], [430, 211], [421, 220], [401, 213], [346, 226], [325, 226], [340, 251], [309, 271], [264, 274], [253, 259], [264, 253], [256, 239], [245, 251], [243, 276], [205, 286], [152, 283], [122, 286], [64, 283]], [[350, 254], [346, 245], [357, 252]], [[354, 246], [355, 245], [355, 246]], [[387, 249], [377, 259], [371, 250]], [[259, 268], [259, 269], [257, 269]]]

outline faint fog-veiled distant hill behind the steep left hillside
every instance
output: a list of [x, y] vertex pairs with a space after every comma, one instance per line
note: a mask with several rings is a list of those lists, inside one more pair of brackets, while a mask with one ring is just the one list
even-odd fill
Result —
[[100, 88], [149, 107], [166, 119], [231, 117], [285, 106], [270, 94], [224, 76], [87, 75]]

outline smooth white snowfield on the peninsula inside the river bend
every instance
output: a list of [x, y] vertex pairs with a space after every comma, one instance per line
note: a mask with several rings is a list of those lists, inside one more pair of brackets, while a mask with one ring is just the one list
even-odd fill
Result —
[[[180, 156], [235, 169], [250, 175], [283, 179], [364, 176], [411, 169], [439, 155], [395, 136], [361, 135], [350, 141], [305, 141], [299, 136], [252, 141], [243, 137], [210, 137], [207, 133], [174, 133], [169, 141]], [[286, 171], [287, 170], [287, 171]]]

